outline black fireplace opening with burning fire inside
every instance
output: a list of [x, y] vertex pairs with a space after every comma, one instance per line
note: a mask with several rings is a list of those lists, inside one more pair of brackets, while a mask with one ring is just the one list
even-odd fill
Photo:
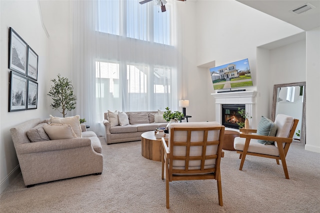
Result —
[[243, 122], [244, 118], [238, 113], [238, 108], [245, 109], [245, 104], [222, 104], [222, 125], [225, 127], [239, 129], [237, 123]]

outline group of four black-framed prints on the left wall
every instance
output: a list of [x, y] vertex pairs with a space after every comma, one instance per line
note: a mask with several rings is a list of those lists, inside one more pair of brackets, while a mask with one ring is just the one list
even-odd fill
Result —
[[11, 27], [8, 58], [10, 69], [8, 111], [36, 109], [38, 55]]

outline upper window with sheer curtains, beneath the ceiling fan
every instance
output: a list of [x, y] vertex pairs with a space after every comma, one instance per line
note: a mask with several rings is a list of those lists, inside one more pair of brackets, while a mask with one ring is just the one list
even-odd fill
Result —
[[98, 0], [96, 30], [170, 45], [170, 13], [159, 9], [154, 2]]

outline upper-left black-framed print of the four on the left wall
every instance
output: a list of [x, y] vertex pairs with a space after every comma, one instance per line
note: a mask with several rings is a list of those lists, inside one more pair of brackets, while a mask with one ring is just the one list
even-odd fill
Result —
[[26, 75], [27, 43], [10, 27], [8, 68]]

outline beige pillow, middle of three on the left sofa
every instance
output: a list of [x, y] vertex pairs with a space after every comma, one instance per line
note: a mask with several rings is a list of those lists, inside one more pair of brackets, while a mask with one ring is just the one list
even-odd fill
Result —
[[49, 124], [43, 126], [45, 133], [50, 140], [76, 138], [70, 124]]

